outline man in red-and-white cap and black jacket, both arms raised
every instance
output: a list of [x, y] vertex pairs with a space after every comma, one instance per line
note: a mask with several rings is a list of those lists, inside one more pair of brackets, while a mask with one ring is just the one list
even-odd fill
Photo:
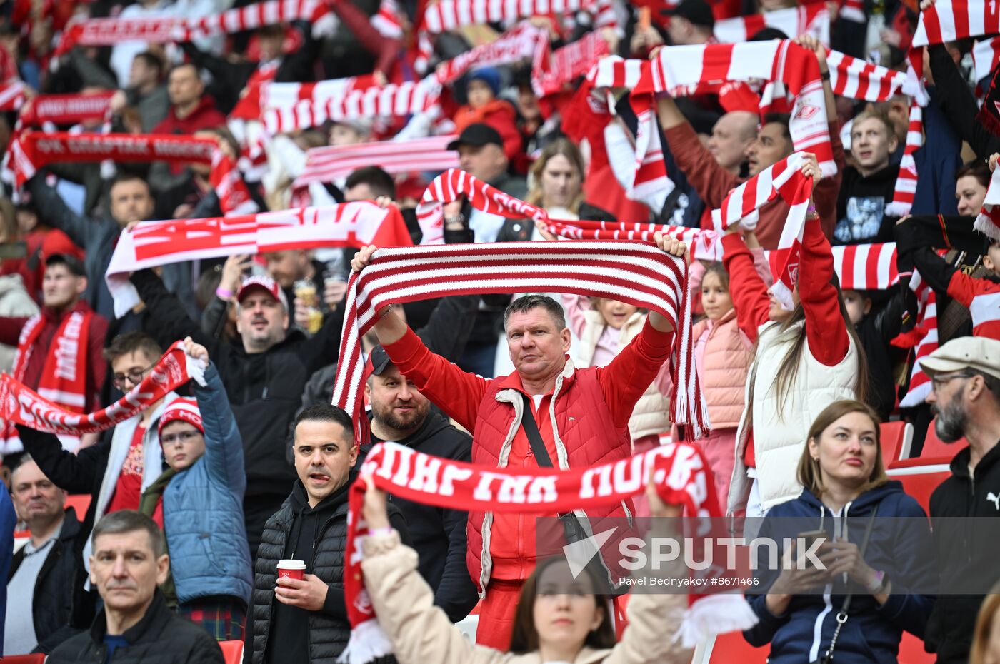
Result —
[[133, 274], [132, 283], [146, 303], [146, 320], [159, 341], [192, 337], [208, 348], [219, 369], [243, 437], [243, 514], [253, 555], [264, 522], [281, 506], [295, 480], [285, 460], [285, 437], [306, 381], [340, 352], [343, 305], [307, 339], [300, 330], [289, 330], [288, 301], [281, 287], [270, 277], [251, 277], [237, 294], [240, 338], [229, 343], [208, 337], [197, 323], [178, 315], [177, 298], [151, 270]]

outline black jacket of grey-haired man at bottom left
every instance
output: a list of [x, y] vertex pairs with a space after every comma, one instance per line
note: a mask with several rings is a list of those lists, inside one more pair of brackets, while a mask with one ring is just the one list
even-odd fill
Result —
[[[105, 664], [104, 645], [107, 622], [104, 611], [97, 614], [90, 630], [74, 636], [52, 651], [47, 664]], [[160, 591], [146, 615], [125, 630], [127, 647], [115, 649], [108, 664], [223, 664], [219, 644], [201, 627], [170, 612]]]

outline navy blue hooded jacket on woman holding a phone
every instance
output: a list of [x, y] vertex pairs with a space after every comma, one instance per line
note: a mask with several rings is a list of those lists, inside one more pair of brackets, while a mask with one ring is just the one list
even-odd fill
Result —
[[[928, 579], [935, 578], [927, 515], [916, 500], [903, 492], [902, 484], [890, 481], [845, 505], [841, 516], [834, 516], [815, 495], [803, 491], [798, 498], [775, 505], [760, 531], [761, 537], [794, 538], [806, 530], [823, 529], [832, 539], [842, 536], [846, 527], [846, 539], [860, 547], [876, 504], [878, 516], [864, 558], [870, 567], [889, 576], [892, 595], [879, 606], [863, 588], [851, 584], [854, 595], [848, 619], [834, 648], [837, 664], [895, 662], [903, 630], [923, 637], [933, 597], [906, 594], [899, 589], [913, 587], [916, 582], [925, 585]], [[911, 518], [896, 521], [891, 517]], [[770, 643], [770, 664], [805, 664], [824, 654], [843, 605], [847, 589], [844, 581], [839, 580], [832, 588], [827, 586], [823, 594], [797, 595], [784, 615], [774, 616], [767, 610], [763, 593], [777, 574], [758, 572], [758, 578], [762, 594], [748, 595], [747, 599], [760, 623], [743, 633], [746, 640], [754, 646]]]

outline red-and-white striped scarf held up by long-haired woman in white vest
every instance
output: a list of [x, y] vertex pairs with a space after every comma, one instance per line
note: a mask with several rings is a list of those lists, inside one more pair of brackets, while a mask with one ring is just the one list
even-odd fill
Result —
[[759, 210], [765, 203], [781, 196], [788, 203], [788, 218], [778, 239], [772, 290], [786, 309], [793, 309], [792, 290], [798, 281], [799, 259], [802, 253], [802, 231], [805, 229], [806, 208], [812, 198], [812, 180], [802, 175], [803, 154], [793, 155], [769, 166], [733, 189], [712, 210], [715, 230], [722, 232], [734, 224], [752, 230], [757, 227]]

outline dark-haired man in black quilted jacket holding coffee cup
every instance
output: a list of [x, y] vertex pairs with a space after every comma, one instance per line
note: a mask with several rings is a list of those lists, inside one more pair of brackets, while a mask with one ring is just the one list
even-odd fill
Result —
[[[295, 421], [294, 454], [299, 479], [264, 526], [254, 566], [253, 664], [334, 664], [351, 633], [344, 557], [358, 449], [350, 416], [330, 404], [306, 408]], [[408, 543], [406, 521], [390, 508], [392, 527]], [[284, 559], [305, 563], [302, 580], [277, 578]]]

